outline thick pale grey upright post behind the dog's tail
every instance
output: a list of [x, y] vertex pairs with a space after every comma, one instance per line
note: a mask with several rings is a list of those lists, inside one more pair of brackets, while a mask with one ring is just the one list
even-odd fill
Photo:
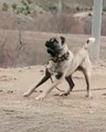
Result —
[[103, 0], [94, 0], [92, 36], [96, 38], [95, 44], [91, 45], [91, 59], [99, 61], [100, 30], [102, 30]]

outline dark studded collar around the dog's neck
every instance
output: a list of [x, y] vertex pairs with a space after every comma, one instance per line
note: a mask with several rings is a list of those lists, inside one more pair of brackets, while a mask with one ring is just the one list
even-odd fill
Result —
[[52, 57], [51, 59], [54, 62], [54, 63], [61, 63], [61, 62], [64, 62], [64, 61], [67, 61], [68, 58], [68, 55], [70, 53], [66, 52], [65, 54], [63, 54], [62, 56], [57, 56], [57, 57]]

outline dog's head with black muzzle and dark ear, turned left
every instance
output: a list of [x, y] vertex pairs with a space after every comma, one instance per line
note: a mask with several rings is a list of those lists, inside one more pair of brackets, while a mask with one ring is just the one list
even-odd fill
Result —
[[65, 44], [65, 37], [63, 36], [52, 37], [45, 43], [46, 52], [51, 54], [52, 57], [56, 57], [64, 48], [64, 44]]

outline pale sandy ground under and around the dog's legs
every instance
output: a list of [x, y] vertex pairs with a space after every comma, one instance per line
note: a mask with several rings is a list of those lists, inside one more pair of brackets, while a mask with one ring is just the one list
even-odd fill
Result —
[[40, 91], [23, 98], [43, 74], [44, 66], [0, 68], [0, 132], [106, 132], [106, 62], [93, 67], [93, 99], [85, 98], [81, 73], [73, 76], [76, 86], [67, 97], [54, 96], [60, 92], [54, 89], [43, 101], [35, 100]]

